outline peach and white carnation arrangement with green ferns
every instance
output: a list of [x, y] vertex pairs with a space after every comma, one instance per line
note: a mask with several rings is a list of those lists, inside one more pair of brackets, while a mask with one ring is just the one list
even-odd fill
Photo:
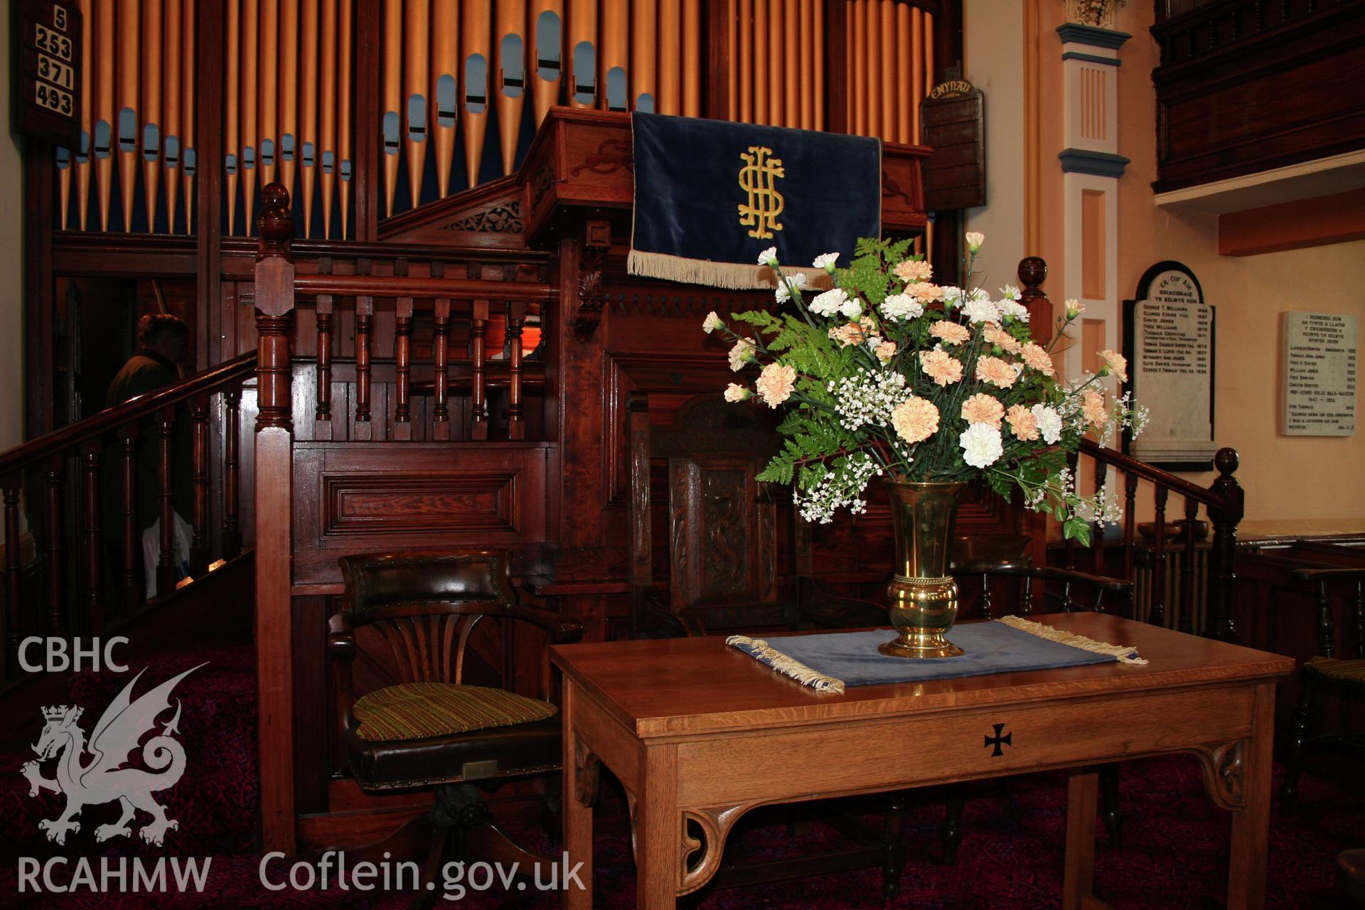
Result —
[[[968, 285], [983, 240], [966, 235]], [[1125, 359], [1102, 351], [1099, 374], [1062, 382], [1051, 355], [1080, 303], [1067, 300], [1054, 337], [1039, 344], [1017, 288], [992, 300], [981, 288], [934, 284], [909, 244], [859, 240], [846, 269], [838, 254], [816, 256], [834, 287], [809, 300], [805, 274], [785, 274], [770, 247], [759, 263], [777, 273], [775, 312], [738, 312], [733, 326], [706, 317], [704, 332], [734, 342], [732, 370], [759, 367], [753, 385], [732, 382], [726, 400], [790, 408], [778, 427], [784, 449], [759, 479], [794, 482], [801, 517], [819, 523], [839, 508], [863, 512], [874, 476], [983, 479], [1006, 501], [1018, 488], [1065, 536], [1088, 542], [1091, 523], [1117, 521], [1117, 497], [1080, 495], [1067, 453], [1087, 432], [1103, 443], [1123, 427], [1141, 430], [1145, 415], [1127, 396], [1106, 401], [1099, 382], [1126, 381]]]

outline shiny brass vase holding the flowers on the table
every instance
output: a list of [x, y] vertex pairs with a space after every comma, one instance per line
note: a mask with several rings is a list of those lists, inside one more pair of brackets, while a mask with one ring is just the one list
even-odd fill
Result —
[[886, 588], [891, 625], [900, 633], [878, 651], [891, 658], [956, 658], [962, 649], [945, 636], [957, 619], [957, 583], [947, 550], [965, 483], [889, 480], [895, 569]]

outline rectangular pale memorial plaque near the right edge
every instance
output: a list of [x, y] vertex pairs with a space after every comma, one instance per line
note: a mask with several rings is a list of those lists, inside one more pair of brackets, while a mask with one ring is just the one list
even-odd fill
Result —
[[1354, 435], [1357, 318], [1340, 312], [1286, 312], [1283, 318], [1280, 432]]

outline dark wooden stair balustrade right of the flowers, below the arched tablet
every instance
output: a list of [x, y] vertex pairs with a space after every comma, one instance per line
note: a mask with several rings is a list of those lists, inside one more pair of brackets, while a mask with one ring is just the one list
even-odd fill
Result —
[[[1051, 303], [1043, 291], [1047, 266], [1031, 256], [1020, 262], [1021, 297], [1029, 307], [1035, 332], [1051, 326]], [[1233, 623], [1233, 587], [1237, 525], [1242, 520], [1244, 493], [1238, 484], [1238, 458], [1233, 449], [1219, 449], [1213, 457], [1218, 479], [1205, 488], [1177, 478], [1149, 464], [1138, 461], [1092, 439], [1081, 443], [1072, 456], [1073, 476], [1080, 482], [1082, 465], [1089, 463], [1093, 488], [1106, 488], [1117, 495], [1122, 478], [1123, 518], [1118, 533], [1108, 536], [1099, 523], [1092, 523], [1089, 566], [1095, 574], [1118, 576], [1136, 583], [1140, 603], [1134, 604], [1136, 618], [1156, 625], [1178, 625], [1186, 632], [1212, 634], [1235, 641]], [[1138, 487], [1151, 488], [1152, 532], [1148, 542], [1138, 539]], [[1170, 497], [1179, 497], [1182, 521], [1178, 532], [1170, 527], [1167, 512]], [[1212, 527], [1212, 540], [1203, 544], [1198, 538], [1200, 509]], [[1174, 546], [1173, 546], [1174, 544]], [[1067, 540], [1062, 548], [1062, 562], [1074, 569], [1081, 547]], [[1114, 551], [1118, 551], [1118, 555]], [[1207, 572], [1201, 570], [1207, 555]], [[1178, 565], [1173, 568], [1173, 562]], [[1201, 574], [1207, 578], [1207, 598], [1201, 598]]]

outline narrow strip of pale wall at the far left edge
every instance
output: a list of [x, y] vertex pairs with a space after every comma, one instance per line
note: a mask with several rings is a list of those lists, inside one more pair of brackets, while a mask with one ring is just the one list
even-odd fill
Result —
[[[0, 71], [10, 71], [10, 16], [0, 16]], [[0, 91], [0, 452], [23, 441], [23, 161], [10, 131], [10, 89]]]

